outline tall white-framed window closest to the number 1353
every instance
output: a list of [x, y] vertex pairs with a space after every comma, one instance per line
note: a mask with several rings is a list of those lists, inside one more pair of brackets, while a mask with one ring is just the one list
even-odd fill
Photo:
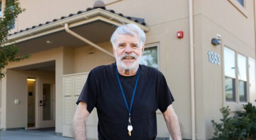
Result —
[[226, 101], [236, 102], [236, 62], [235, 52], [224, 48], [225, 95]]

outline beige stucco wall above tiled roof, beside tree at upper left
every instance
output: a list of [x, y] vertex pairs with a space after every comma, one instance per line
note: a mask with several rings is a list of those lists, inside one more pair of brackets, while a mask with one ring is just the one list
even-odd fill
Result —
[[[24, 30], [27, 27], [59, 19], [61, 16], [68, 16], [71, 13], [76, 13], [79, 10], [86, 10], [87, 7], [92, 6], [93, 0], [20, 0], [20, 6], [26, 9], [26, 12], [18, 15], [15, 29], [12, 32]], [[34, 19], [34, 20], [23, 20]]]

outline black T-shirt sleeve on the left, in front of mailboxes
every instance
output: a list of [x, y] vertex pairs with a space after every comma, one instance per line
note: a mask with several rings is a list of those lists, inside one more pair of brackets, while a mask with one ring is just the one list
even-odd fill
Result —
[[76, 104], [79, 104], [80, 101], [87, 103], [87, 110], [89, 113], [91, 113], [96, 105], [97, 87], [93, 70], [89, 73]]

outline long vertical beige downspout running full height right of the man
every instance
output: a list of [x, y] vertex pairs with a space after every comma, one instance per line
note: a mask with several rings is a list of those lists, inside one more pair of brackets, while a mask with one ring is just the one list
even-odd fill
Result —
[[194, 31], [193, 31], [193, 0], [189, 0], [189, 48], [190, 48], [190, 87], [191, 87], [191, 130], [192, 139], [196, 140], [196, 109], [195, 109], [195, 73], [194, 73]]

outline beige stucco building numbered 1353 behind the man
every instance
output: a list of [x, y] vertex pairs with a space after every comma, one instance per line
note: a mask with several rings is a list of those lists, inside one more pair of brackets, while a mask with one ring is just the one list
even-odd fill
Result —
[[[165, 75], [183, 138], [212, 138], [211, 120], [222, 117], [221, 107], [230, 106], [233, 114], [247, 102], [255, 105], [254, 1], [104, 0], [104, 7], [94, 0], [19, 2], [26, 11], [9, 39], [20, 46], [19, 55], [31, 57], [5, 69], [1, 128], [55, 127], [57, 134], [72, 136], [75, 101], [87, 75], [115, 62], [109, 40], [126, 23], [146, 33], [141, 63]], [[157, 136], [167, 138], [156, 113]], [[97, 139], [97, 121], [95, 108], [87, 123], [90, 139]]]

